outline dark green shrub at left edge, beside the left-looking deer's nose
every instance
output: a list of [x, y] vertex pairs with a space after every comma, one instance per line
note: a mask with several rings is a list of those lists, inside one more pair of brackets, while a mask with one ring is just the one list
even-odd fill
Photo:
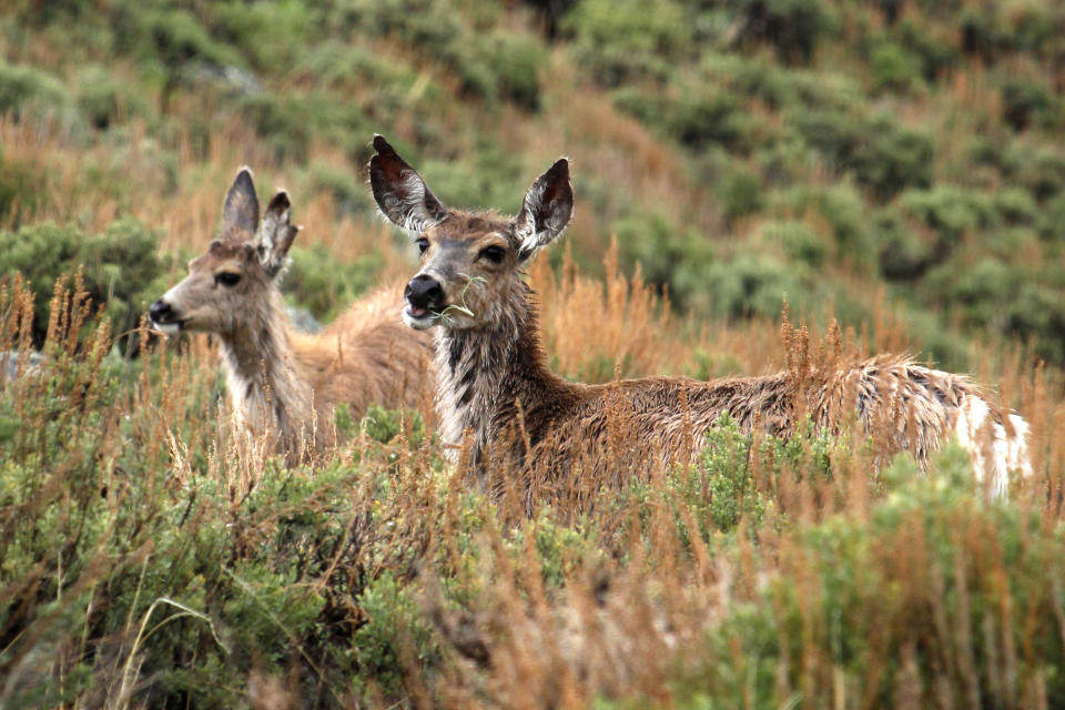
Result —
[[[0, 273], [20, 272], [34, 295], [33, 342], [40, 345], [48, 328], [48, 308], [57, 280], [82, 270], [85, 291], [97, 307], [105, 307], [112, 333], [135, 328], [148, 306], [160, 295], [162, 265], [158, 236], [133, 219], [122, 219], [103, 234], [85, 234], [55, 224], [0, 232]], [[123, 335], [119, 344], [135, 352], [139, 344]]]

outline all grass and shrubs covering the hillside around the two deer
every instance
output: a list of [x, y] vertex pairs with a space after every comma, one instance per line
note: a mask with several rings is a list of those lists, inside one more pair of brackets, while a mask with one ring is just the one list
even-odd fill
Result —
[[[1065, 707], [1063, 83], [1031, 0], [4, 3], [0, 706]], [[564, 375], [764, 373], [838, 318], [995, 386], [1035, 476], [726, 420], [527, 519], [384, 410], [284, 467], [139, 316], [242, 164], [305, 225], [293, 304], [408, 277], [375, 132], [454, 206], [571, 159]]]

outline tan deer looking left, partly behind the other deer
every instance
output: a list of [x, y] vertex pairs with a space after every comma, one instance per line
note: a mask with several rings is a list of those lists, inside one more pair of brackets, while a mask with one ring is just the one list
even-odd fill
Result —
[[252, 171], [240, 169], [215, 239], [149, 317], [166, 335], [214, 334], [239, 425], [296, 464], [337, 443], [338, 405], [358, 422], [371, 404], [427, 404], [434, 386], [430, 338], [399, 316], [402, 284], [362, 298], [318, 334], [294, 331], [280, 288], [301, 230], [290, 215], [288, 193], [280, 190], [260, 221]]

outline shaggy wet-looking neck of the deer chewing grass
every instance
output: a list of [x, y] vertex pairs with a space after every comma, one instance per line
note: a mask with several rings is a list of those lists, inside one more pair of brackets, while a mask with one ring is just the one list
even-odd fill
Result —
[[[443, 439], [468, 442], [475, 462], [495, 434], [515, 424], [519, 407], [525, 416], [560, 382], [545, 363], [538, 308], [524, 282], [491, 325], [439, 328], [436, 369]], [[454, 446], [448, 450], [457, 458]]]

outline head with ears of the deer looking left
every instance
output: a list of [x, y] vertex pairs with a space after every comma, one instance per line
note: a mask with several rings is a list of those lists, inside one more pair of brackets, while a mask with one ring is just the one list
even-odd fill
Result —
[[153, 327], [164, 333], [232, 334], [261, 311], [277, 288], [300, 227], [288, 222], [288, 193], [278, 191], [262, 223], [252, 171], [242, 168], [222, 209], [222, 229], [207, 251], [189, 262], [189, 275], [152, 304]]

